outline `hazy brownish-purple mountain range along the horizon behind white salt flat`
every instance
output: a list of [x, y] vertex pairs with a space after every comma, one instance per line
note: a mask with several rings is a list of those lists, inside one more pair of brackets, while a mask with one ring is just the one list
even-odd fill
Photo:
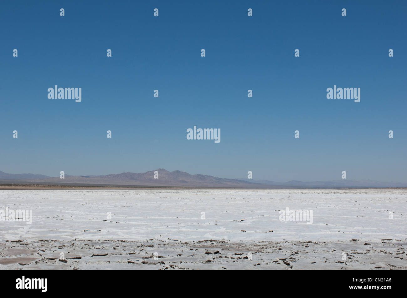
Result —
[[[154, 172], [158, 172], [158, 179]], [[65, 178], [49, 177], [39, 174], [9, 174], [0, 171], [0, 183], [3, 184], [69, 184], [69, 185], [137, 185], [137, 186], [173, 186], [173, 187], [237, 187], [237, 188], [347, 188], [347, 187], [407, 187], [407, 183], [379, 182], [372, 180], [339, 181], [288, 181], [284, 183], [242, 178], [226, 179], [209, 175], [157, 169], [145, 173], [125, 172], [100, 176], [70, 176]]]

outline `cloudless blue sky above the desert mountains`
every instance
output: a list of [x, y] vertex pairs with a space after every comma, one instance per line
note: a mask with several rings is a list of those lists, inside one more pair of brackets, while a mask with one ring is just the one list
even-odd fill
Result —
[[[2, 2], [0, 170], [407, 181], [407, 2], [84, 2]], [[187, 140], [194, 125], [221, 142]]]

